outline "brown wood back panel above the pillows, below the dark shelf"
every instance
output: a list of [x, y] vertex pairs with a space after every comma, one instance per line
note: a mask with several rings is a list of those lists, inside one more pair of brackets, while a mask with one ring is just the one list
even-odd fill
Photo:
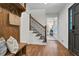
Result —
[[17, 39], [18, 42], [20, 42], [20, 32], [19, 32], [19, 26], [12, 26], [9, 24], [9, 14], [1, 12], [0, 13], [0, 35], [3, 36], [6, 40], [13, 36]]

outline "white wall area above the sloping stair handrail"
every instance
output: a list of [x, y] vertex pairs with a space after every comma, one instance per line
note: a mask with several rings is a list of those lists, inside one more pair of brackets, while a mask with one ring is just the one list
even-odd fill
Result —
[[35, 9], [29, 11], [31, 15], [43, 26], [46, 25], [46, 13], [45, 9]]

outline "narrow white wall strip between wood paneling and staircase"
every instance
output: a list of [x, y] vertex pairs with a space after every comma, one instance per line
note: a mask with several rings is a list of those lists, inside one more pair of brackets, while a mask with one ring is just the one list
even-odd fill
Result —
[[20, 42], [27, 43], [29, 41], [29, 14], [23, 12], [21, 15], [20, 26]]

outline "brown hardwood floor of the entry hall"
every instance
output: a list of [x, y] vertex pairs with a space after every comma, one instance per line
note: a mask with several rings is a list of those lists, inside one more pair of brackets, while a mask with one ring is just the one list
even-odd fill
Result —
[[28, 45], [26, 50], [27, 56], [72, 56], [60, 42], [48, 41], [45, 46]]

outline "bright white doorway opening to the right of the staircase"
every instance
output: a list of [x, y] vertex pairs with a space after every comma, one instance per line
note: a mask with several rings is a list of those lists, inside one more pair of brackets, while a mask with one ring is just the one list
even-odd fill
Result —
[[57, 17], [47, 18], [47, 39], [57, 39]]

